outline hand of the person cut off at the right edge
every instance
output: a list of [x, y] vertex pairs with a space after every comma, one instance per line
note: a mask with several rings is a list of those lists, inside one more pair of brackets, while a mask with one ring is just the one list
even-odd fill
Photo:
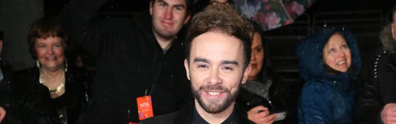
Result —
[[396, 104], [389, 103], [381, 111], [381, 121], [384, 124], [396, 124]]

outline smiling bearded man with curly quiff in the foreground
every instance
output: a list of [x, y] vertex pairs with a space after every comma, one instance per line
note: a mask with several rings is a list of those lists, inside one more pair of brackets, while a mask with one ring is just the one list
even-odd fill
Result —
[[209, 5], [191, 20], [184, 66], [193, 105], [140, 124], [254, 124], [234, 106], [250, 72], [253, 27], [229, 5]]

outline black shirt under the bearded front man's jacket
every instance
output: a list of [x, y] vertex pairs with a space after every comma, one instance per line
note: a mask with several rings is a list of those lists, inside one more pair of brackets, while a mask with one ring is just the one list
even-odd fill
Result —
[[[224, 120], [221, 124], [237, 124], [237, 116], [235, 114], [235, 107], [232, 110], [231, 115]], [[197, 108], [194, 106], [194, 110], [192, 111], [192, 124], [209, 124], [205, 121], [198, 113]]]

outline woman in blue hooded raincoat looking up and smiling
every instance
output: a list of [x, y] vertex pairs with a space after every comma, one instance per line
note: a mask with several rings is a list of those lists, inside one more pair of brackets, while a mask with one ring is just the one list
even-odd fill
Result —
[[353, 124], [353, 77], [361, 69], [355, 37], [344, 28], [318, 31], [296, 49], [306, 83], [298, 102], [299, 124]]

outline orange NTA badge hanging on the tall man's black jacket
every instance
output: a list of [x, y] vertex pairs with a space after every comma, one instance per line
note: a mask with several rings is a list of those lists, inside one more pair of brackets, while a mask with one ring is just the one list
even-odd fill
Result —
[[138, 102], [139, 120], [144, 120], [154, 116], [150, 95], [138, 97], [136, 98], [136, 101]]

